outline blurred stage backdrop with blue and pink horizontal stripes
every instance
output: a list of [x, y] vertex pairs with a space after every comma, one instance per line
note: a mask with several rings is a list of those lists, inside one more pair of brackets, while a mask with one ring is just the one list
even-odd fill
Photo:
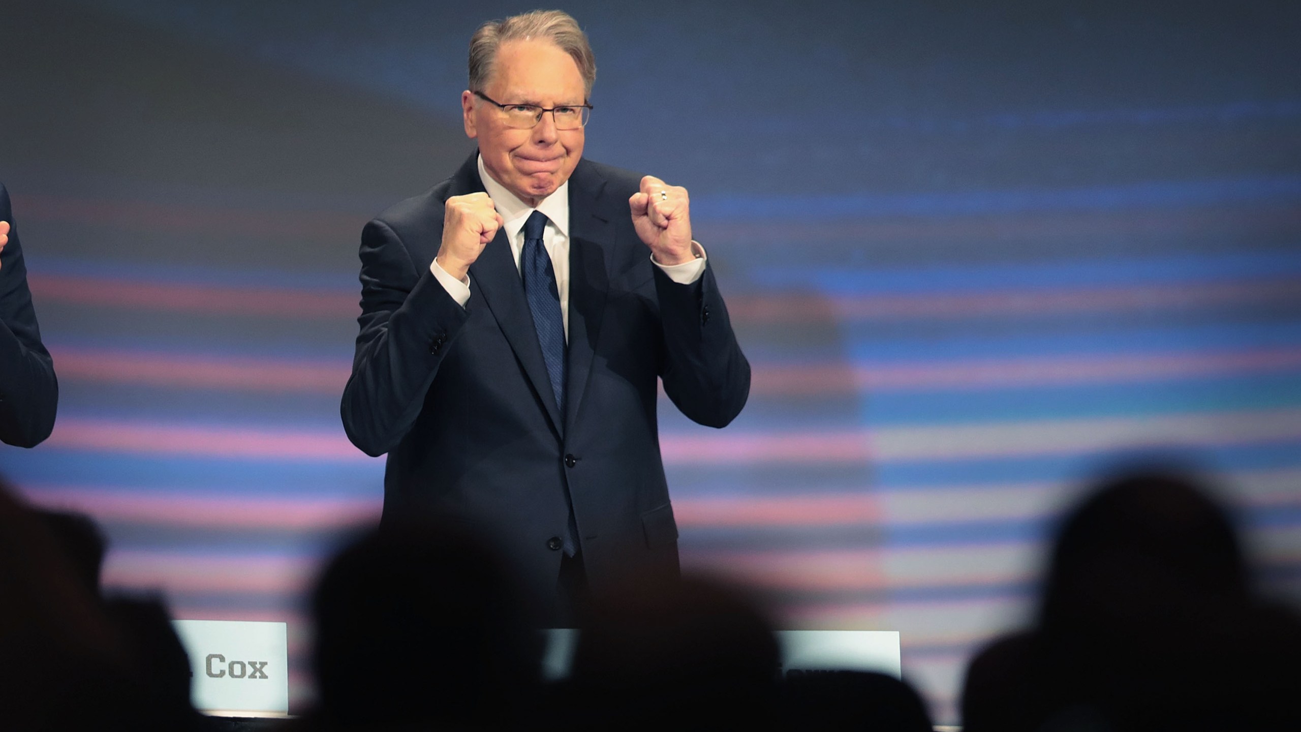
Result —
[[[59, 371], [0, 449], [91, 513], [107, 582], [290, 623], [373, 521], [353, 448], [362, 225], [472, 150], [466, 44], [516, 3], [5, 0], [0, 180]], [[755, 367], [665, 401], [684, 563], [788, 628], [902, 632], [954, 719], [1108, 457], [1224, 475], [1301, 594], [1301, 7], [596, 3], [588, 156], [690, 188]]]

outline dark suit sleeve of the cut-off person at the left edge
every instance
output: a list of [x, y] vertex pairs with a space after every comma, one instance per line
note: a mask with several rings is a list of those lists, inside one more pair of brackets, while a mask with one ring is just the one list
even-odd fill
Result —
[[0, 440], [34, 447], [55, 429], [59, 382], [49, 352], [40, 344], [18, 225], [4, 184], [0, 221], [10, 227], [9, 244], [0, 253]]

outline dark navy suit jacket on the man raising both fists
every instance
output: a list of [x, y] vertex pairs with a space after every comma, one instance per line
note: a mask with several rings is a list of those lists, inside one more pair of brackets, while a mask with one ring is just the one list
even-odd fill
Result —
[[657, 378], [687, 417], [716, 427], [749, 395], [713, 272], [674, 283], [634, 232], [639, 182], [588, 160], [570, 177], [566, 414], [506, 234], [470, 267], [464, 309], [429, 272], [444, 202], [484, 190], [474, 155], [362, 232], [360, 335], [342, 415], [353, 444], [389, 455], [384, 520], [438, 511], [483, 524], [550, 599], [566, 491], [593, 589], [678, 570]]

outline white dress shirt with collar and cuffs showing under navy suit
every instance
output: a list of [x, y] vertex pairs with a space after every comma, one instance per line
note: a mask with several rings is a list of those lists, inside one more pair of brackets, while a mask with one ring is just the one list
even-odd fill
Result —
[[[565, 181], [554, 193], [537, 202], [537, 208], [515, 197], [500, 182], [493, 180], [484, 168], [484, 159], [479, 156], [479, 178], [483, 180], [488, 198], [501, 214], [506, 232], [506, 241], [510, 242], [510, 253], [515, 257], [515, 268], [519, 270], [519, 258], [524, 250], [524, 221], [535, 210], [546, 215], [546, 228], [543, 231], [543, 246], [546, 255], [552, 258], [552, 271], [556, 274], [556, 289], [561, 296], [561, 318], [565, 322], [565, 341], [569, 343], [569, 181]], [[631, 215], [631, 214], [630, 214]], [[650, 258], [650, 262], [664, 270], [675, 283], [690, 285], [705, 274], [705, 250], [697, 242], [691, 242], [696, 259], [682, 264], [665, 266]], [[437, 277], [448, 294], [462, 307], [470, 301], [470, 275], [464, 280], [458, 280], [449, 275], [435, 258], [429, 263], [429, 271]]]

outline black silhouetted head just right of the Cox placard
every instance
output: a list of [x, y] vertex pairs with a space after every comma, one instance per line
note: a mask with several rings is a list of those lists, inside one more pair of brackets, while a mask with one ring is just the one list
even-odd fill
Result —
[[537, 685], [540, 640], [511, 576], [445, 521], [367, 533], [312, 599], [320, 707], [337, 728], [497, 728]]

